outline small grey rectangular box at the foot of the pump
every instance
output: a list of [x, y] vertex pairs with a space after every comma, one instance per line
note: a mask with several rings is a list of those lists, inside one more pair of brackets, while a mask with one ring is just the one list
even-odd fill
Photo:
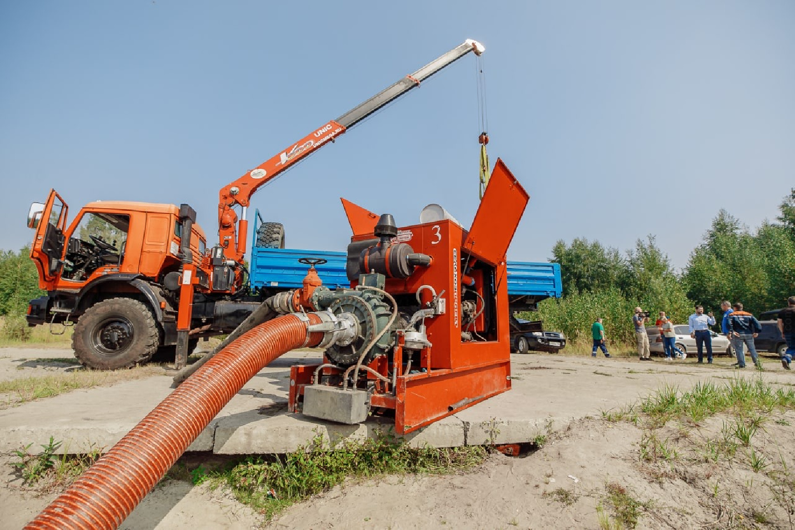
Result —
[[370, 396], [362, 390], [343, 390], [321, 384], [304, 387], [303, 413], [312, 418], [353, 425], [362, 423], [370, 412]]

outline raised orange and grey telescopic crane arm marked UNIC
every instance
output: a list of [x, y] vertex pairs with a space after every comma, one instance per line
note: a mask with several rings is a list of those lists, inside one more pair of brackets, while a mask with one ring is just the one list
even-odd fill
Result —
[[[443, 56], [425, 64], [417, 72], [405, 76], [339, 118], [325, 123], [281, 153], [262, 162], [231, 184], [224, 186], [219, 192], [218, 203], [219, 243], [223, 247], [224, 256], [227, 259], [234, 259], [238, 263], [242, 262], [243, 255], [246, 254], [246, 232], [248, 232], [246, 210], [251, 196], [262, 185], [273, 180], [290, 166], [320, 149], [329, 140], [343, 134], [378, 109], [409, 92], [412, 88], [418, 87], [422, 81], [439, 72], [448, 64], [459, 60], [467, 53], [474, 52], [475, 55], [480, 55], [484, 50], [483, 45], [478, 41], [467, 39], [463, 44], [456, 46]], [[239, 224], [237, 213], [233, 209], [235, 205], [242, 207]]]

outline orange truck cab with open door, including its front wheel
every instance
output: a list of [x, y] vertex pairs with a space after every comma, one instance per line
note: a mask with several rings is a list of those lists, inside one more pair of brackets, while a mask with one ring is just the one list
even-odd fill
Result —
[[[175, 345], [175, 287], [191, 212], [186, 205], [96, 201], [69, 223], [68, 206], [51, 190], [28, 215], [36, 231], [30, 257], [48, 291], [30, 303], [29, 325], [76, 322], [76, 356], [95, 368], [131, 366]], [[197, 287], [208, 290], [206, 237], [188, 224]]]

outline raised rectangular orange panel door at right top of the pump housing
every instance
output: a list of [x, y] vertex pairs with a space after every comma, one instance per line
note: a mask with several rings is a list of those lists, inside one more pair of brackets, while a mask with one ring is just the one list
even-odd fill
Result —
[[504, 261], [529, 199], [513, 173], [498, 158], [472, 228], [463, 241], [463, 250], [491, 266]]

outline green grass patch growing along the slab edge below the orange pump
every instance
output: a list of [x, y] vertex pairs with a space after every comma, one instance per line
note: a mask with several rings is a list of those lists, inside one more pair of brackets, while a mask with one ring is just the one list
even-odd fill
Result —
[[273, 458], [248, 457], [231, 469], [209, 473], [210, 484], [231, 489], [238, 501], [270, 519], [293, 503], [348, 480], [386, 474], [453, 473], [487, 458], [482, 446], [412, 448], [385, 435], [343, 441], [334, 449], [320, 436], [307, 447]]

